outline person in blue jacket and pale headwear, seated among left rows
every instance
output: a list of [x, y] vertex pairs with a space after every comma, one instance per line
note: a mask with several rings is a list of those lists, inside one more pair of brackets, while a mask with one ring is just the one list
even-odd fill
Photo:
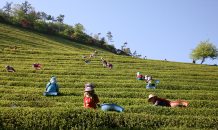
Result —
[[56, 83], [56, 78], [55, 77], [51, 78], [50, 83], [48, 83], [46, 85], [45, 90], [46, 90], [46, 92], [58, 92], [59, 91], [59, 86]]

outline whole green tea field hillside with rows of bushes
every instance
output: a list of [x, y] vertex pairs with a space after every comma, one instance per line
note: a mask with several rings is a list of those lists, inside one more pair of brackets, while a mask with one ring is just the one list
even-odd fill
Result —
[[[85, 63], [82, 56], [95, 50], [102, 54]], [[103, 67], [101, 57], [115, 68]], [[33, 63], [40, 63], [42, 69], [35, 70]], [[5, 65], [16, 72], [7, 73]], [[156, 89], [146, 89], [145, 81], [136, 80], [137, 72], [160, 83]], [[43, 92], [51, 77], [57, 78], [60, 93], [46, 97]], [[114, 103], [124, 111], [84, 108], [86, 83], [93, 84], [101, 104]], [[186, 108], [153, 107], [147, 102], [149, 94], [189, 104]], [[0, 127], [218, 129], [218, 67], [116, 55], [0, 23]]]

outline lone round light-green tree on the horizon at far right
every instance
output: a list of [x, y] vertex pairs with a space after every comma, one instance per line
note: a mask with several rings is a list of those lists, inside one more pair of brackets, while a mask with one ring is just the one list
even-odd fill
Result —
[[189, 58], [193, 60], [201, 59], [201, 64], [205, 61], [206, 58], [211, 58], [212, 60], [218, 57], [218, 49], [216, 46], [209, 43], [209, 39], [207, 41], [200, 41], [200, 44], [195, 49], [191, 49], [192, 52], [189, 54]]

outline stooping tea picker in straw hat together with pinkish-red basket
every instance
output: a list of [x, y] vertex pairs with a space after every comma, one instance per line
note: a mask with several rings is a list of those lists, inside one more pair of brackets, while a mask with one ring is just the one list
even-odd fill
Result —
[[166, 107], [187, 107], [188, 102], [184, 101], [174, 101], [170, 102], [164, 98], [157, 97], [154, 94], [150, 94], [148, 97], [148, 102], [152, 102], [153, 106], [166, 106]]

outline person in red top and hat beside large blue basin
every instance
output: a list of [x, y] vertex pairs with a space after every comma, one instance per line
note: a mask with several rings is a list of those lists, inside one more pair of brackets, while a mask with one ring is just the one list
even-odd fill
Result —
[[94, 108], [96, 109], [97, 106], [100, 107], [99, 104], [99, 99], [97, 94], [95, 94], [94, 88], [91, 83], [87, 83], [85, 85], [85, 90], [84, 90], [83, 98], [84, 98], [84, 106], [86, 108]]

